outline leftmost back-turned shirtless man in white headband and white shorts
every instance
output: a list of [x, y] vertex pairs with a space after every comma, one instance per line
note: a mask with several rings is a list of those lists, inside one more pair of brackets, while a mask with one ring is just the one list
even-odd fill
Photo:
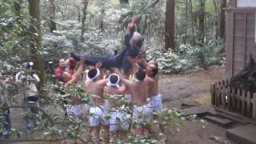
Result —
[[86, 75], [86, 82], [84, 82], [86, 92], [94, 94], [94, 97], [90, 100], [94, 104], [94, 106], [90, 106], [90, 127], [96, 137], [95, 143], [99, 143], [101, 126], [104, 129], [105, 141], [109, 142], [109, 120], [106, 119], [109, 106], [102, 98], [106, 82], [108, 82], [107, 79], [100, 79], [100, 70], [98, 68], [89, 70]]

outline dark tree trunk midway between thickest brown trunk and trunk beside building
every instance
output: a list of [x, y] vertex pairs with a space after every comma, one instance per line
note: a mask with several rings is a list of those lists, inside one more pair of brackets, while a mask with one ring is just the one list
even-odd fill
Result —
[[202, 46], [205, 38], [205, 0], [199, 0], [199, 14], [198, 14], [198, 31], [199, 31], [199, 38], [198, 42], [199, 45]]

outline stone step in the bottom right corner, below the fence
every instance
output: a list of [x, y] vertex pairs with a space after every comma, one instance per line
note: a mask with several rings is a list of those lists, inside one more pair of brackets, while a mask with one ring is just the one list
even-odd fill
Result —
[[226, 136], [238, 144], [256, 144], [256, 126], [249, 124], [226, 130]]

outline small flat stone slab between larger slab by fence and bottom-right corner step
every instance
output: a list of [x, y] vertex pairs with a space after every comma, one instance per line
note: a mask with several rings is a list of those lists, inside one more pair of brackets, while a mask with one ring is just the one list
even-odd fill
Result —
[[219, 118], [219, 117], [213, 117], [213, 116], [205, 116], [203, 118], [205, 118], [207, 121], [214, 122], [218, 126], [222, 126], [225, 128], [230, 127], [232, 125], [232, 121], [226, 118]]

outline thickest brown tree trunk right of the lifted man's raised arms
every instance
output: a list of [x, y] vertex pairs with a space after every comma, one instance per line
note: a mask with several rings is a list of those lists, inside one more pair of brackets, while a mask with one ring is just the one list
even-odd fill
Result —
[[174, 0], [166, 2], [166, 39], [165, 50], [174, 50]]

